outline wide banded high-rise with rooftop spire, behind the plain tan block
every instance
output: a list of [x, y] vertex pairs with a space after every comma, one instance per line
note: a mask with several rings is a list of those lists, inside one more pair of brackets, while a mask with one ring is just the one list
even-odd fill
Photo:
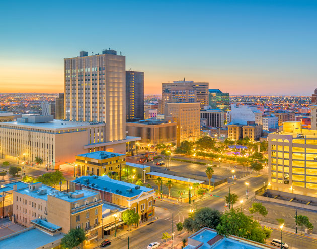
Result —
[[[208, 105], [208, 88], [208, 82], [186, 81], [184, 78], [182, 81], [162, 83], [162, 95], [167, 89], [171, 93], [172, 98], [177, 99], [177, 102], [199, 102], [200, 109], [203, 110], [204, 106]], [[163, 102], [162, 98], [162, 106], [163, 105], [165, 106], [165, 103]]]

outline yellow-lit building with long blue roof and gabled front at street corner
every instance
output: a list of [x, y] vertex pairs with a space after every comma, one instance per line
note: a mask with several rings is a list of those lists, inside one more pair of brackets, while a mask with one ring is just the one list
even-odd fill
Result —
[[139, 213], [141, 221], [154, 216], [154, 190], [144, 186], [112, 180], [108, 176], [82, 176], [70, 182], [70, 190], [88, 188], [99, 191], [101, 198]]

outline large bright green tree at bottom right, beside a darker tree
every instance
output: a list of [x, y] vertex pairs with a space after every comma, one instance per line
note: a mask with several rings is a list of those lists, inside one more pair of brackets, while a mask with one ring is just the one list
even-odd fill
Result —
[[219, 234], [225, 236], [235, 235], [259, 243], [264, 243], [266, 238], [259, 222], [234, 209], [230, 209], [229, 212], [221, 216], [216, 230]]

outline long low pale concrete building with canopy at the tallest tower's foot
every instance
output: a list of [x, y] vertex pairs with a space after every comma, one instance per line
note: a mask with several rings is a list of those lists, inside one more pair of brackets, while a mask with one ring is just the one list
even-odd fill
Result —
[[[105, 123], [53, 120], [52, 116], [22, 115], [15, 122], [0, 123], [0, 155], [34, 163], [40, 157], [44, 165], [57, 169], [60, 164], [75, 161], [75, 155], [92, 151], [126, 152], [126, 142], [105, 141]], [[43, 165], [43, 167], [44, 167]]]

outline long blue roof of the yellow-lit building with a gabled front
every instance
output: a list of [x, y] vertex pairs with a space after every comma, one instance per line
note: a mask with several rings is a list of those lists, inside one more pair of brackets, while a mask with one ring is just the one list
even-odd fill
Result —
[[[87, 180], [89, 180], [88, 185], [87, 185]], [[126, 196], [126, 197], [134, 197], [143, 192], [153, 191], [153, 189], [146, 188], [144, 186], [138, 186], [128, 182], [110, 179], [107, 175], [81, 176], [73, 180], [72, 182], [82, 184], [84, 187], [89, 186], [89, 188], [93, 188], [97, 190], [105, 189], [105, 191], [107, 192]], [[139, 187], [139, 188], [135, 189], [135, 187]], [[131, 191], [127, 191], [130, 189]]]

